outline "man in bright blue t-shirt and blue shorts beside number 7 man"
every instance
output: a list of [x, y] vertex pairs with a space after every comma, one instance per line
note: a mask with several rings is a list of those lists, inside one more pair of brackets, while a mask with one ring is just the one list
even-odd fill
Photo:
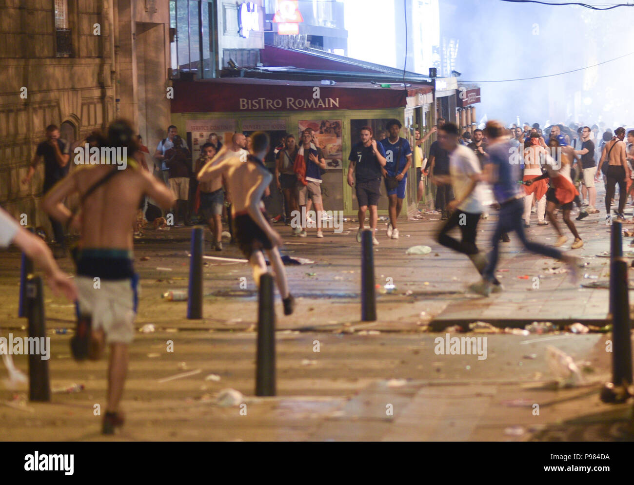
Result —
[[[390, 221], [387, 223], [387, 237], [392, 239], [398, 239], [396, 219], [401, 215], [401, 209], [403, 209], [407, 171], [411, 167], [410, 142], [399, 136], [401, 126], [399, 120], [389, 120], [385, 126], [389, 136], [380, 142], [385, 150], [386, 162], [382, 172], [385, 177], [390, 214]], [[391, 184], [393, 188], [391, 188]]]

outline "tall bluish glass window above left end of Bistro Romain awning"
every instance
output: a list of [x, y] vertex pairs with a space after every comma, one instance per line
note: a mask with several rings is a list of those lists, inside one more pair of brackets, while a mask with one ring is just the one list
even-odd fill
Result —
[[172, 76], [196, 74], [214, 77], [215, 3], [207, 0], [172, 0], [169, 3]]

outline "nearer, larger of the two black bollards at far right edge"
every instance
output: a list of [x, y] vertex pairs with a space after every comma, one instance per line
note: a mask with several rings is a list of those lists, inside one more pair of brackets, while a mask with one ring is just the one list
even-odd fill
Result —
[[628, 264], [623, 258], [610, 265], [612, 295], [612, 384], [632, 383], [630, 337], [630, 299], [628, 295]]

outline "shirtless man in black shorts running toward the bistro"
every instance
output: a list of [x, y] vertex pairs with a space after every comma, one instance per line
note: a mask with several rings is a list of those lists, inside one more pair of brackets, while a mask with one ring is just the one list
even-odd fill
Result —
[[266, 133], [256, 131], [250, 138], [252, 150], [247, 155], [247, 162], [240, 162], [237, 157], [224, 158], [219, 163], [211, 160], [198, 172], [198, 180], [204, 182], [225, 174], [233, 196], [233, 235], [240, 250], [249, 259], [253, 279], [259, 287], [260, 276], [268, 271], [262, 254], [264, 249], [275, 271], [275, 281], [282, 297], [284, 314], [290, 315], [295, 307], [295, 299], [288, 290], [286, 271], [278, 250], [282, 240], [268, 223], [268, 216], [262, 204], [262, 196], [273, 179], [273, 175], [262, 162], [269, 150], [269, 137]]

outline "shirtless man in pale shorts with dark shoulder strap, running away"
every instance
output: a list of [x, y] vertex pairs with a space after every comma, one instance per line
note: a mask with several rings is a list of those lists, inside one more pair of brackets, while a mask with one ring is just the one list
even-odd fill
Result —
[[[103, 434], [112, 434], [123, 425], [119, 402], [136, 316], [138, 275], [134, 273], [132, 250], [139, 202], [143, 195], [152, 197], [163, 209], [169, 209], [175, 202], [171, 190], [134, 161], [134, 152], [138, 150], [135, 133], [122, 120], [116, 120], [108, 128], [108, 146], [127, 155], [126, 169], [119, 170], [117, 165], [86, 165], [53, 186], [42, 201], [42, 208], [51, 217], [81, 228], [75, 254], [80, 317], [72, 348], [77, 359], [86, 356], [98, 359], [104, 344], [110, 345]], [[89, 192], [91, 188], [94, 190]], [[79, 221], [61, 204], [73, 193], [80, 197]]]

